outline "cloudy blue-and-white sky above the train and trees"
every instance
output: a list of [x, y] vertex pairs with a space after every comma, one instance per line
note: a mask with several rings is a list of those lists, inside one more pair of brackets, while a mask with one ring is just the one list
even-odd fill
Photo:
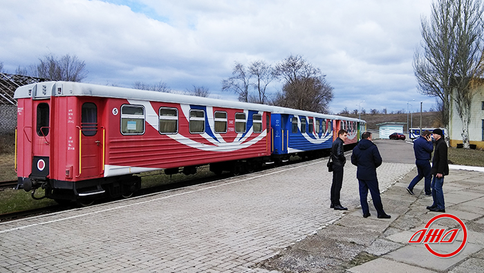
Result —
[[[331, 111], [428, 110], [412, 59], [431, 0], [0, 0], [3, 72], [50, 53], [77, 55], [84, 82], [165, 82], [221, 92], [234, 62], [277, 64], [301, 55], [334, 88]], [[270, 87], [271, 92], [280, 83]], [[410, 108], [410, 106], [409, 106]]]

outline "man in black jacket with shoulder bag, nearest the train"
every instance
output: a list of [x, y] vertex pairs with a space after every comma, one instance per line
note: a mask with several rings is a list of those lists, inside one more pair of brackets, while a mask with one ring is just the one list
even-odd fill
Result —
[[343, 143], [348, 138], [348, 132], [344, 129], [338, 131], [338, 137], [333, 146], [331, 147], [331, 160], [333, 160], [333, 183], [331, 184], [331, 206], [337, 210], [346, 210], [339, 203], [339, 196], [341, 192], [341, 187], [343, 185], [343, 168], [344, 163], [346, 163], [346, 158], [344, 157]]

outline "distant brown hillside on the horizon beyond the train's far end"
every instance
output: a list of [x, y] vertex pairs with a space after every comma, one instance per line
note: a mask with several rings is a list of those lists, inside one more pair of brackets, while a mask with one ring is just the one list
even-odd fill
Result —
[[[344, 115], [344, 114], [338, 114]], [[440, 122], [437, 120], [438, 112], [422, 113], [422, 127], [440, 127]], [[356, 117], [358, 115], [344, 115], [345, 117]], [[361, 119], [366, 121], [366, 129], [378, 129], [376, 124], [383, 122], [404, 122], [407, 123], [407, 114], [362, 114]], [[413, 127], [420, 126], [420, 113], [413, 113]], [[411, 127], [411, 119], [409, 115], [409, 127]], [[407, 131], [407, 124], [403, 126], [403, 130]]]

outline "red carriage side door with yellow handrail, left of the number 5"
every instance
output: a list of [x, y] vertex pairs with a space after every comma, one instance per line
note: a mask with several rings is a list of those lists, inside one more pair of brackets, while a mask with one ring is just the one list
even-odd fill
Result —
[[102, 173], [103, 130], [99, 126], [99, 100], [81, 100], [80, 173], [83, 178]]

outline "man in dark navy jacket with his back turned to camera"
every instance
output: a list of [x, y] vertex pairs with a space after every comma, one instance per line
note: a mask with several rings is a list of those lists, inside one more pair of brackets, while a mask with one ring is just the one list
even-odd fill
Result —
[[370, 216], [367, 202], [368, 190], [370, 190], [378, 218], [391, 218], [383, 210], [380, 189], [378, 188], [378, 178], [376, 176], [376, 168], [382, 164], [382, 156], [380, 156], [378, 147], [372, 142], [370, 132], [364, 132], [362, 140], [353, 149], [351, 164], [357, 166], [356, 178], [358, 178], [360, 184], [360, 203], [362, 205], [363, 217]]

